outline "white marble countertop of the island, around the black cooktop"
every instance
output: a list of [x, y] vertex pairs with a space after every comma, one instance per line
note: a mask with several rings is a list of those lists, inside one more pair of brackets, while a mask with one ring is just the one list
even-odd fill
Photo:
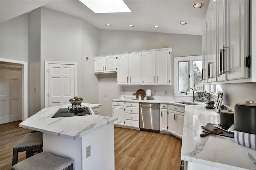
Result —
[[82, 106], [88, 107], [92, 115], [52, 118], [58, 109], [68, 108], [69, 106], [70, 105], [63, 105], [44, 108], [20, 123], [19, 127], [77, 139], [117, 120], [117, 118], [114, 117], [94, 115], [92, 109], [100, 105], [90, 103], [82, 103]]

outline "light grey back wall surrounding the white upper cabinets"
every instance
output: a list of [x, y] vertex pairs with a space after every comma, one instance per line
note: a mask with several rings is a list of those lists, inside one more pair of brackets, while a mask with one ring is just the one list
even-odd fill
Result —
[[[173, 96], [174, 91], [174, 57], [201, 55], [201, 36], [184, 34], [166, 34], [154, 32], [134, 31], [100, 31], [100, 53], [99, 55], [139, 51], [146, 49], [158, 49], [172, 47], [172, 85], [171, 86], [118, 86], [116, 74], [101, 74], [99, 79], [100, 114], [112, 116], [112, 99], [120, 95], [132, 95], [138, 89], [151, 89], [152, 94], [156, 91], [157, 96]], [[106, 94], [106, 97], [104, 96]]]

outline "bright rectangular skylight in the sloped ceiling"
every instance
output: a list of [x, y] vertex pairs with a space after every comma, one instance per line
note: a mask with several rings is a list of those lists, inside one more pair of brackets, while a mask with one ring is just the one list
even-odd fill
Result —
[[123, 0], [79, 0], [95, 13], [132, 12]]

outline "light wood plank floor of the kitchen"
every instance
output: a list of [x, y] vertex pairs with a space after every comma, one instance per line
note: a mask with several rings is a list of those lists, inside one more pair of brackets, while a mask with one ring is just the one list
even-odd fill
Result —
[[[0, 170], [12, 167], [12, 147], [31, 130], [21, 121], [0, 125]], [[116, 170], [179, 170], [181, 140], [168, 135], [115, 127]], [[26, 158], [19, 152], [18, 162]]]

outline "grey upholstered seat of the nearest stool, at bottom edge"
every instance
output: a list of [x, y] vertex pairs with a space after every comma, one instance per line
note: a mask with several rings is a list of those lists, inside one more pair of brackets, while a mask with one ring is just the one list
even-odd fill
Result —
[[65, 170], [72, 164], [72, 160], [41, 152], [15, 164], [12, 170]]

